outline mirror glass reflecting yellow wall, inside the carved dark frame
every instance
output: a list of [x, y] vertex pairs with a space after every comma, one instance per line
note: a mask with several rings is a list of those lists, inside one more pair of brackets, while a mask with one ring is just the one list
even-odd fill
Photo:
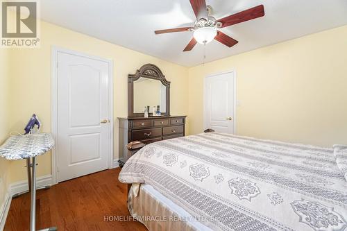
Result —
[[134, 113], [144, 113], [144, 107], [160, 106], [160, 112], [166, 112], [167, 87], [159, 80], [140, 77], [134, 81]]

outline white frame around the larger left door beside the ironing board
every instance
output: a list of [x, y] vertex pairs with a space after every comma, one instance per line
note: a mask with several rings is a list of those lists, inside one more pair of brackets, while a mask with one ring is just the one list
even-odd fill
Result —
[[99, 60], [103, 62], [108, 62], [108, 102], [109, 108], [108, 113], [110, 115], [110, 147], [109, 147], [109, 161], [108, 169], [113, 168], [113, 126], [114, 126], [114, 117], [113, 117], [113, 60], [101, 58], [96, 55], [89, 55], [86, 53], [81, 53], [79, 51], [73, 51], [65, 49], [59, 46], [51, 47], [51, 133], [55, 142], [55, 146], [51, 150], [51, 171], [52, 171], [52, 185], [58, 184], [58, 53], [67, 53], [70, 55], [77, 55], [84, 58], [90, 58], [94, 60]]

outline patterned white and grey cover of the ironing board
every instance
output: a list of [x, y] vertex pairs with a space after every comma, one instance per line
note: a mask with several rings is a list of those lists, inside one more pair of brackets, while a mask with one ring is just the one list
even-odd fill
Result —
[[13, 135], [0, 146], [0, 157], [7, 160], [22, 160], [43, 155], [54, 146], [50, 133]]

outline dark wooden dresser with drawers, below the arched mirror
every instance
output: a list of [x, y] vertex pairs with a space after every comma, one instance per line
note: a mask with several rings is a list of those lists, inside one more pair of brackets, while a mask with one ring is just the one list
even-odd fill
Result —
[[134, 117], [119, 119], [119, 165], [128, 160], [126, 144], [138, 140], [144, 144], [185, 136], [185, 117]]

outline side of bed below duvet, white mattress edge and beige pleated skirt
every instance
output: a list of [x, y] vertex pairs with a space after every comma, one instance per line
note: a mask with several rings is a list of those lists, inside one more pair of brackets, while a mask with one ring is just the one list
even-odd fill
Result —
[[[132, 187], [128, 195], [129, 212], [148, 230], [212, 231], [151, 185], [141, 184]], [[134, 187], [139, 189], [134, 190]], [[134, 191], [136, 191], [135, 194]]]

